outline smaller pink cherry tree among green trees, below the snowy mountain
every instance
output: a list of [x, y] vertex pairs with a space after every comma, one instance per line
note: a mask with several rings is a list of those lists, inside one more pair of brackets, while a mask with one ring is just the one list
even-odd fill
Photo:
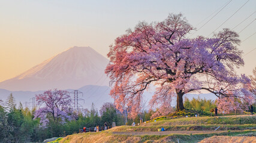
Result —
[[71, 98], [68, 91], [48, 90], [43, 94], [36, 95], [35, 98], [40, 106], [35, 111], [35, 118], [41, 118], [42, 126], [46, 126], [49, 120], [53, 120], [54, 123], [71, 120]]

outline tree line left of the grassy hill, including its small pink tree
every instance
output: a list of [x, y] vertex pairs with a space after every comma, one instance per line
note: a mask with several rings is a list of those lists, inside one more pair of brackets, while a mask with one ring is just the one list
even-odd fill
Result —
[[[23, 107], [21, 102], [17, 106], [12, 94], [7, 101], [0, 100], [0, 142], [43, 142], [47, 138], [78, 133], [83, 127], [104, 126], [105, 122], [108, 126], [113, 122], [121, 126], [140, 123], [141, 117], [150, 120], [146, 111], [135, 120], [127, 119], [111, 102], [104, 103], [100, 110], [92, 103], [91, 109], [80, 109], [77, 113], [70, 108], [71, 100], [64, 94], [67, 92], [54, 89], [36, 95], [37, 107], [32, 109]], [[52, 111], [47, 107], [52, 107]]]

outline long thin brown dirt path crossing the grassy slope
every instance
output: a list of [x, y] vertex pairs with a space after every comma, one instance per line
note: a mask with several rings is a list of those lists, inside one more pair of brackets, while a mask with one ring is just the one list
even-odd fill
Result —
[[227, 130], [174, 130], [174, 131], [164, 131], [164, 132], [113, 132], [113, 134], [115, 134], [115, 135], [169, 135], [169, 134], [190, 135], [192, 133], [192, 135], [193, 135], [193, 134], [208, 134], [208, 133], [222, 133], [222, 132], [227, 132]]

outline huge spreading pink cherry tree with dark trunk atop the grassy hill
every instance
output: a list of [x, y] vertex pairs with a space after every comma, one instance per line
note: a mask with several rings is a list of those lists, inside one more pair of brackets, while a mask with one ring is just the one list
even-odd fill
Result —
[[217, 97], [241, 92], [249, 80], [234, 70], [244, 64], [239, 35], [223, 29], [212, 38], [189, 39], [191, 30], [182, 14], [169, 14], [164, 21], [140, 22], [115, 39], [105, 71], [115, 81], [110, 95], [116, 108], [129, 108], [135, 117], [149, 85], [158, 87], [152, 107], [166, 106], [176, 96], [177, 110], [184, 109], [182, 97], [192, 91], [204, 89]]

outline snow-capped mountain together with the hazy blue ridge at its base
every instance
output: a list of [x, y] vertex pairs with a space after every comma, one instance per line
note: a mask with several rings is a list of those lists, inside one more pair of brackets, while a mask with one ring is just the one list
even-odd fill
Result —
[[[5, 101], [11, 93], [16, 98], [16, 103], [31, 102], [36, 94], [42, 94], [47, 89], [63, 89], [69, 92], [74, 89], [83, 92], [85, 100], [80, 101], [83, 108], [90, 108], [92, 102], [100, 108], [104, 102], [113, 102], [109, 92], [109, 78], [104, 70], [109, 60], [98, 54], [90, 47], [68, 49], [55, 57], [49, 58], [37, 66], [25, 71], [12, 79], [0, 83], [0, 100]], [[154, 90], [153, 90], [154, 91]], [[144, 101], [149, 102], [153, 91], [146, 91]], [[185, 95], [189, 99], [197, 98], [198, 94]], [[201, 98], [215, 100], [215, 95], [201, 94]], [[73, 98], [73, 95], [71, 95]], [[175, 100], [172, 102], [176, 105]]]

